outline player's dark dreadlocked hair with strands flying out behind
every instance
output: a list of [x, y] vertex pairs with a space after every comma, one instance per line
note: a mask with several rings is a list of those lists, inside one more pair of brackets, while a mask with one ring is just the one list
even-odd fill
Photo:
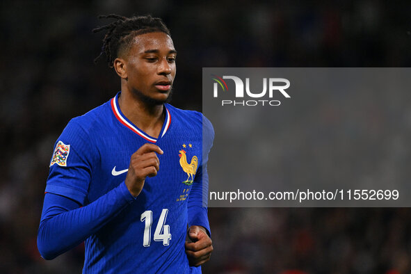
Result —
[[115, 58], [127, 52], [136, 35], [157, 31], [170, 35], [170, 30], [163, 21], [161, 21], [160, 18], [151, 17], [151, 15], [134, 16], [131, 18], [114, 14], [99, 15], [99, 19], [102, 18], [117, 19], [111, 24], [92, 30], [94, 33], [107, 30], [103, 39], [102, 52], [95, 58], [95, 62], [97, 62], [100, 56], [105, 53], [107, 56], [108, 67], [113, 67]]

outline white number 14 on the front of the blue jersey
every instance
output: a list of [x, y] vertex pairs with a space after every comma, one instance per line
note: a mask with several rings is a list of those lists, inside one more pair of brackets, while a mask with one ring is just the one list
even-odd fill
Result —
[[[169, 245], [171, 240], [170, 225], [164, 225], [167, 214], [168, 209], [161, 211], [159, 223], [157, 223], [156, 231], [154, 231], [154, 241], [163, 241], [163, 245]], [[151, 243], [152, 216], [153, 212], [151, 210], [144, 211], [140, 216], [142, 222], [145, 220], [143, 245], [146, 248], [150, 246]]]

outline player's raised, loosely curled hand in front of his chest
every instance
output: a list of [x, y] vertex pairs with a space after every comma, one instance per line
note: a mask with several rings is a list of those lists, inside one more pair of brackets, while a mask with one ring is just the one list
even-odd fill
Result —
[[134, 197], [137, 197], [143, 190], [145, 177], [154, 177], [159, 171], [160, 161], [156, 152], [163, 154], [159, 146], [146, 143], [131, 155], [125, 183]]

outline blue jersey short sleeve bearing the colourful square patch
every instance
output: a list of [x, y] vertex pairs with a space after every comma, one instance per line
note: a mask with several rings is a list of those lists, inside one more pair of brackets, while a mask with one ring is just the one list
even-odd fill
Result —
[[45, 192], [84, 204], [95, 157], [86, 131], [71, 120], [58, 137], [51, 156]]

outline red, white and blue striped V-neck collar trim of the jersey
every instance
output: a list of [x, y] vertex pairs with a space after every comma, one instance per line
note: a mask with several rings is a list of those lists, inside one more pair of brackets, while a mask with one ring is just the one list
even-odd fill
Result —
[[[168, 128], [170, 127], [170, 121], [171, 121], [171, 116], [170, 112], [168, 111], [166, 105], [164, 105], [166, 108], [166, 120], [165, 124], [163, 125], [163, 128], [161, 129], [160, 132], [160, 138], [166, 134]], [[111, 99], [111, 109], [113, 110], [113, 113], [115, 115], [115, 118], [120, 121], [125, 127], [131, 129], [131, 131], [134, 131], [135, 134], [138, 134], [139, 136], [145, 138], [145, 140], [148, 140], [152, 143], [156, 143], [157, 139], [154, 137], [151, 137], [147, 134], [144, 133], [141, 129], [138, 129], [132, 122], [130, 122], [120, 111], [120, 107], [118, 106], [118, 95], [115, 95], [113, 99]]]

